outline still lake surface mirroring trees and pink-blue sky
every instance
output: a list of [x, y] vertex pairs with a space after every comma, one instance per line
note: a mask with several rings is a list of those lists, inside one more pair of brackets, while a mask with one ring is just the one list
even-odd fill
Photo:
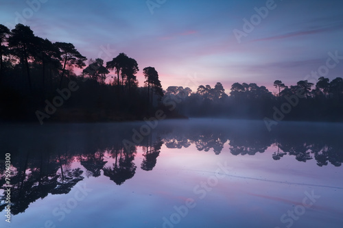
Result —
[[149, 124], [1, 126], [0, 227], [342, 227], [342, 124]]

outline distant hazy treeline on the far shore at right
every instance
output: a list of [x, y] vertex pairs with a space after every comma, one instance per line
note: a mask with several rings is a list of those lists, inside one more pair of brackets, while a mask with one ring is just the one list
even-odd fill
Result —
[[[191, 117], [216, 116], [264, 120], [272, 126], [278, 121], [343, 121], [343, 79], [319, 77], [316, 84], [307, 80], [286, 86], [280, 80], [273, 94], [255, 83], [235, 83], [226, 94], [220, 82], [189, 88], [170, 86], [165, 94], [178, 101], [176, 110]], [[272, 123], [274, 121], [274, 123]], [[268, 127], [270, 129], [270, 127]]]

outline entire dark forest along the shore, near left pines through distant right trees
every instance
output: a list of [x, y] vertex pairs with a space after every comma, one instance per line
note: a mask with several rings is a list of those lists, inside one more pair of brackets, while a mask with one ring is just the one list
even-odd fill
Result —
[[[75, 68], [82, 74], [76, 75]], [[12, 30], [0, 25], [0, 119], [40, 124], [130, 121], [163, 110], [167, 118], [255, 118], [269, 125], [281, 120], [343, 121], [341, 77], [294, 86], [276, 80], [276, 94], [255, 83], [235, 83], [226, 94], [220, 82], [196, 91], [182, 86], [163, 90], [152, 66], [143, 68], [144, 86], [139, 87], [138, 71], [137, 61], [125, 53], [109, 62], [87, 60], [71, 43], [40, 38], [22, 24]]]

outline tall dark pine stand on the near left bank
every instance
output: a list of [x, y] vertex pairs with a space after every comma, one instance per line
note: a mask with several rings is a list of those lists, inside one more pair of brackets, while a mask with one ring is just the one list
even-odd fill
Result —
[[144, 86], [138, 87], [139, 66], [125, 53], [109, 62], [87, 60], [71, 43], [40, 38], [22, 24], [12, 31], [0, 25], [0, 60], [4, 121], [123, 121], [163, 109], [156, 69], [143, 68]]

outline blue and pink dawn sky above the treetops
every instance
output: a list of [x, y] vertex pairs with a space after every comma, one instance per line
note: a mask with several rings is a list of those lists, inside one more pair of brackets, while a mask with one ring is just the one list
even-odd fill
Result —
[[163, 89], [246, 82], [276, 91], [276, 79], [343, 77], [342, 9], [342, 0], [0, 0], [0, 24], [71, 42], [88, 59], [126, 53], [139, 86], [153, 66]]

